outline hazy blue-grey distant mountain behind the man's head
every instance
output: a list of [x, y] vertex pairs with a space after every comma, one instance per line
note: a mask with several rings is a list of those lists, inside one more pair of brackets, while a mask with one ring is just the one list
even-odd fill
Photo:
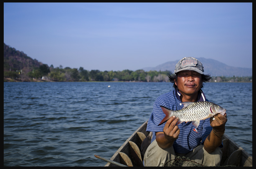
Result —
[[[205, 59], [205, 58], [196, 58], [196, 59], [198, 59], [203, 64], [204, 74], [211, 74], [211, 76], [230, 77], [230, 76], [252, 76], [253, 75], [252, 68], [232, 67], [214, 59]], [[160, 64], [156, 67], [145, 67], [142, 69], [146, 72], [150, 70], [152, 71], [168, 70], [168, 71], [174, 72], [175, 65], [176, 63], [178, 63], [178, 61], [179, 60], [170, 61], [170, 62]]]

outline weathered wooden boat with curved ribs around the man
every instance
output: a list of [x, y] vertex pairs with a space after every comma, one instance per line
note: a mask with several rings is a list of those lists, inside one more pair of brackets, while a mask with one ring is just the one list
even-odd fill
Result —
[[[113, 162], [126, 166], [142, 167], [145, 151], [152, 138], [152, 132], [146, 132], [146, 128], [147, 121], [124, 142], [109, 160], [111, 163], [108, 162], [105, 167], [117, 166]], [[221, 166], [252, 166], [252, 156], [226, 134], [223, 135], [222, 142], [224, 146], [222, 148]]]

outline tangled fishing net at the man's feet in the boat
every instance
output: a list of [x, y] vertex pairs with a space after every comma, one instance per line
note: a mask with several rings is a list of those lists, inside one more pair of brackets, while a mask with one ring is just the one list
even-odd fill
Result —
[[[207, 167], [203, 164], [199, 164], [193, 160], [190, 160], [189, 158], [186, 158], [184, 156], [183, 157], [175, 156], [174, 159], [167, 160], [165, 163], [162, 163], [162, 167], [167, 167], [167, 166], [168, 167]], [[231, 167], [231, 165], [226, 167]]]

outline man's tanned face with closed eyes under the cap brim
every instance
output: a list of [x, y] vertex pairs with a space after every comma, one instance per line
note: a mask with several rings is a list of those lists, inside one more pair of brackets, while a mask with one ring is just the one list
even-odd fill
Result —
[[202, 75], [198, 72], [189, 70], [179, 72], [177, 81], [175, 81], [175, 85], [177, 85], [183, 96], [193, 96], [195, 94], [197, 95], [198, 91], [201, 89], [202, 84]]

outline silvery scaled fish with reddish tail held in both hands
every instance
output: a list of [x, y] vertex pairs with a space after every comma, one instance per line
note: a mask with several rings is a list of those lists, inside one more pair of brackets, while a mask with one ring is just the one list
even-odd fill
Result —
[[162, 119], [158, 126], [165, 123], [172, 116], [175, 116], [176, 118], [179, 118], [177, 125], [184, 121], [192, 121], [192, 124], [195, 126], [195, 128], [197, 128], [199, 126], [200, 120], [208, 119], [218, 113], [221, 115], [226, 113], [225, 108], [213, 102], [182, 102], [181, 104], [184, 105], [183, 108], [177, 111], [168, 109], [165, 106], [160, 106], [166, 116]]

